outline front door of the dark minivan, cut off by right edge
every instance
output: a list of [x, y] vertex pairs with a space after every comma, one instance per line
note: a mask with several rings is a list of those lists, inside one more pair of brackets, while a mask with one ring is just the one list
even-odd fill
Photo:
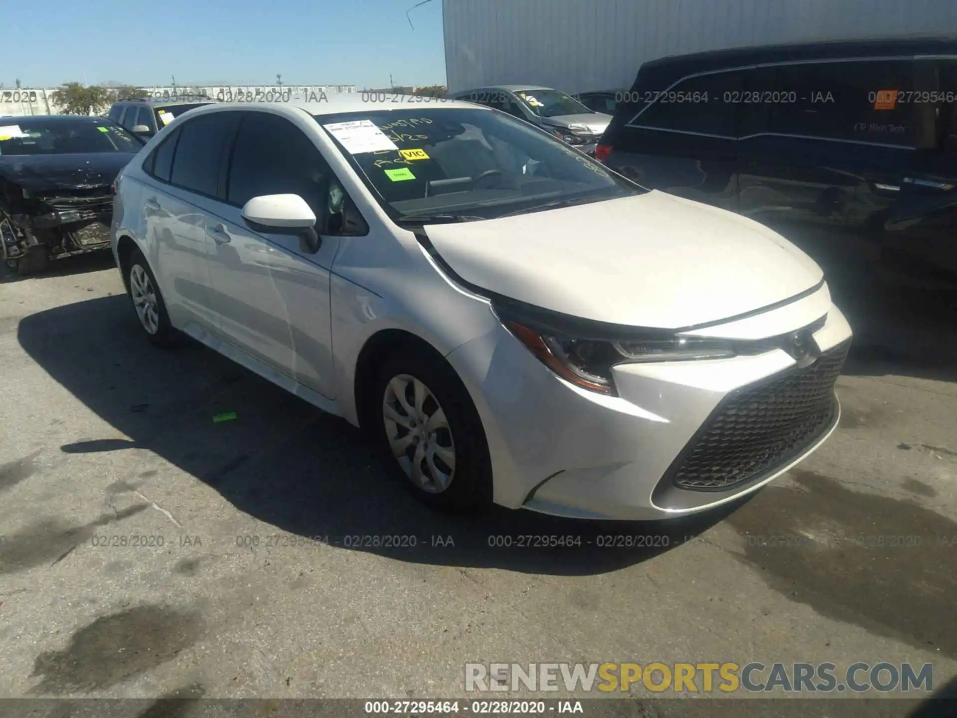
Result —
[[917, 148], [895, 212], [884, 223], [891, 258], [957, 277], [957, 57], [916, 64]]

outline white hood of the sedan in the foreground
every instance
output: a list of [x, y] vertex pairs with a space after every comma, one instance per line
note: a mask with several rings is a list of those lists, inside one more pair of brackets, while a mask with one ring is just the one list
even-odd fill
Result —
[[716, 322], [823, 279], [812, 258], [767, 227], [660, 191], [425, 232], [462, 280], [617, 325]]

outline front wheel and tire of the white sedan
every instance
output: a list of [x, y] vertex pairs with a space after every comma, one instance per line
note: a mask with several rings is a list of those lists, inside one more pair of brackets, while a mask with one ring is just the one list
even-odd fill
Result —
[[[417, 416], [416, 384], [424, 389]], [[479, 413], [445, 361], [426, 348], [397, 349], [379, 368], [369, 403], [370, 428], [384, 460], [421, 501], [452, 513], [491, 505], [491, 460]], [[438, 409], [446, 421], [439, 419], [430, 432], [428, 418], [438, 415]]]

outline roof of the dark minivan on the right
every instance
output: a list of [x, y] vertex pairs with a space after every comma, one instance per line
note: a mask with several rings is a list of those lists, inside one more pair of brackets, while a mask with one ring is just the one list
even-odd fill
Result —
[[639, 77], [654, 75], [660, 79], [680, 79], [705, 70], [721, 70], [755, 64], [943, 53], [957, 54], [957, 35], [829, 40], [710, 50], [692, 55], [667, 56], [650, 60], [641, 66]]

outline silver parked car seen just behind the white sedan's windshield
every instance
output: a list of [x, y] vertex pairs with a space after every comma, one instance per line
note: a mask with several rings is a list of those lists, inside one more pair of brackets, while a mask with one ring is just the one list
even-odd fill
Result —
[[464, 100], [494, 107], [510, 115], [538, 124], [568, 145], [594, 155], [595, 145], [612, 116], [586, 107], [581, 102], [550, 87], [499, 85], [465, 90], [453, 95]]

